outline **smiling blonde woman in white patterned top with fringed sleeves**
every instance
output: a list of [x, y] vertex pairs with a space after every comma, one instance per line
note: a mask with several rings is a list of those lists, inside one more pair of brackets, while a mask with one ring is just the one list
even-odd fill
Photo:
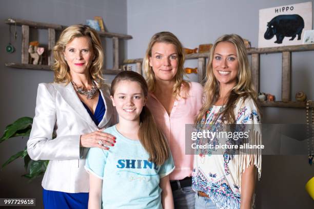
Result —
[[[197, 118], [197, 127], [225, 131], [224, 124], [248, 128], [250, 142], [261, 143], [261, 121], [257, 94], [252, 88], [251, 74], [239, 35], [223, 35], [210, 52], [204, 86], [206, 102]], [[214, 137], [210, 143], [231, 144], [229, 137]], [[194, 158], [192, 178], [195, 208], [251, 208], [254, 199], [256, 171], [261, 175], [259, 150], [203, 150]]]

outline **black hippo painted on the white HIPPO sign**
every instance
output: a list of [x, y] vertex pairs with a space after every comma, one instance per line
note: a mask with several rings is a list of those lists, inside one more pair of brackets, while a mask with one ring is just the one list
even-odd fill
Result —
[[291, 37], [289, 40], [301, 39], [301, 33], [304, 28], [304, 20], [298, 14], [278, 15], [267, 23], [267, 30], [264, 34], [265, 39], [271, 39], [276, 35], [277, 40], [274, 43], [281, 44], [285, 36]]

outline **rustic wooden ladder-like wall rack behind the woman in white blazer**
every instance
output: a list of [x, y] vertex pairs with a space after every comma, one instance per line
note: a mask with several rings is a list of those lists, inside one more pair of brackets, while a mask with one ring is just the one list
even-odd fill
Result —
[[[51, 70], [53, 64], [52, 49], [55, 45], [55, 31], [62, 31], [67, 26], [33, 22], [24, 19], [8, 18], [5, 23], [9, 25], [22, 26], [22, 61], [21, 63], [6, 62], [5, 65], [10, 68], [33, 69], [33, 70]], [[48, 65], [31, 65], [28, 64], [28, 47], [29, 47], [29, 28], [48, 29]], [[113, 47], [113, 69], [103, 69], [104, 74], [117, 74], [119, 69], [119, 39], [131, 39], [131, 35], [120, 33], [109, 33], [97, 31], [101, 37], [112, 38]]]

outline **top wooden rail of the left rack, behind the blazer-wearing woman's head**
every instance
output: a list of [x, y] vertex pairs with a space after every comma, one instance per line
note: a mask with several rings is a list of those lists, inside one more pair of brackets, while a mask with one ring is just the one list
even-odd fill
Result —
[[[9, 25], [17, 25], [17, 26], [22, 26], [22, 25], [28, 25], [29, 27], [32, 28], [38, 28], [38, 29], [55, 29], [58, 31], [62, 31], [66, 29], [68, 26], [63, 26], [63, 25], [57, 25], [57, 24], [49, 24], [49, 23], [41, 23], [41, 22], [33, 22], [30, 20], [25, 20], [25, 19], [15, 19], [15, 18], [8, 18], [5, 19], [5, 23]], [[120, 33], [109, 33], [109, 32], [102, 32], [102, 31], [97, 31], [100, 36], [103, 37], [117, 37], [121, 39], [132, 39], [133, 37], [131, 35], [125, 35], [125, 34], [120, 34]]]

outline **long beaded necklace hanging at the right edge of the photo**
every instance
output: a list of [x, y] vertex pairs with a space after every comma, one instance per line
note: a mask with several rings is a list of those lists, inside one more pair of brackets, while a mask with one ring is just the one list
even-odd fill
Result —
[[[311, 108], [311, 135], [309, 134], [309, 106], [311, 100], [306, 101], [306, 135], [307, 135], [307, 151], [308, 151], [308, 163], [312, 165], [313, 163], [313, 145], [314, 145], [314, 108]], [[310, 137], [311, 136], [311, 137]]]

